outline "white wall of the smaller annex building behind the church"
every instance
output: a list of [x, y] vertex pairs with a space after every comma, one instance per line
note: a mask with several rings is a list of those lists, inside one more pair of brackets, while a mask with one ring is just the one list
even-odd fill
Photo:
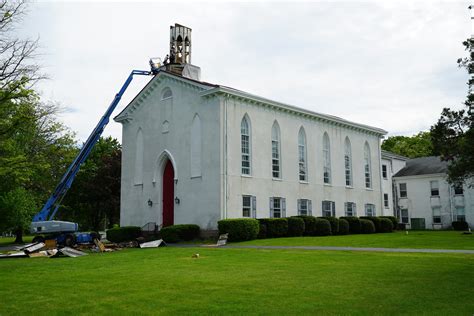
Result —
[[[407, 184], [407, 198], [398, 198], [401, 208], [407, 208], [409, 218], [424, 218], [427, 229], [433, 226], [433, 206], [441, 207], [442, 226], [438, 228], [449, 228], [453, 221], [454, 209], [457, 205], [464, 205], [466, 221], [474, 227], [474, 189], [463, 187], [463, 195], [454, 195], [454, 190], [446, 181], [445, 174], [418, 175], [396, 177], [395, 185], [397, 191], [400, 183]], [[430, 181], [438, 181], [439, 197], [431, 197]]]

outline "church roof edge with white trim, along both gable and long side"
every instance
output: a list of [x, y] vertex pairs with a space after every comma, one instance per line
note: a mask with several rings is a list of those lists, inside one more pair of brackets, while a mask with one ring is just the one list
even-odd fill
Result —
[[343, 118], [340, 118], [340, 117], [337, 117], [337, 116], [334, 116], [334, 115], [313, 112], [313, 111], [306, 110], [306, 109], [303, 109], [303, 108], [299, 108], [299, 107], [296, 107], [296, 106], [293, 106], [293, 105], [281, 103], [281, 102], [278, 102], [278, 101], [273, 101], [273, 100], [270, 100], [270, 99], [267, 99], [267, 98], [264, 98], [264, 97], [261, 97], [261, 96], [258, 96], [258, 95], [254, 95], [254, 94], [251, 94], [251, 93], [248, 93], [248, 92], [245, 92], [245, 91], [242, 91], [242, 90], [238, 90], [238, 89], [235, 89], [235, 88], [227, 87], [227, 86], [224, 86], [224, 85], [217, 85], [217, 84], [212, 84], [212, 83], [208, 83], [208, 82], [205, 82], [205, 81], [198, 81], [198, 80], [190, 79], [190, 78], [187, 78], [187, 77], [176, 75], [176, 74], [171, 73], [171, 72], [166, 71], [166, 70], [160, 70], [147, 83], [147, 85], [137, 94], [137, 96], [122, 110], [122, 112], [120, 112], [117, 116], [114, 117], [114, 120], [115, 121], [121, 121], [122, 118], [126, 116], [128, 108], [135, 102], [135, 100], [137, 98], [139, 98], [139, 96], [148, 89], [148, 87], [151, 85], [151, 83], [155, 80], [156, 77], [159, 77], [159, 76], [162, 76], [162, 75], [171, 76], [175, 79], [183, 80], [185, 82], [188, 82], [188, 83], [191, 83], [191, 84], [194, 84], [196, 86], [201, 87], [202, 91], [201, 91], [200, 94], [201, 94], [202, 97], [210, 97], [210, 96], [213, 96], [213, 95], [227, 95], [227, 96], [246, 99], [246, 100], [248, 100], [250, 102], [254, 102], [256, 104], [262, 104], [262, 105], [266, 105], [266, 106], [275, 107], [275, 108], [281, 109], [281, 110], [286, 111], [286, 112], [292, 112], [292, 113], [295, 113], [295, 114], [299, 114], [299, 115], [319, 119], [319, 120], [322, 120], [322, 121], [333, 122], [333, 123], [336, 123], [338, 125], [343, 125], [343, 126], [352, 127], [352, 128], [355, 128], [355, 129], [361, 129], [361, 130], [364, 130], [364, 131], [369, 131], [369, 132], [377, 134], [379, 136], [387, 134], [387, 131], [385, 131], [384, 129], [378, 128], [378, 127], [373, 127], [373, 126], [369, 126], [369, 125], [365, 125], [365, 124], [351, 122], [351, 121], [345, 120]]

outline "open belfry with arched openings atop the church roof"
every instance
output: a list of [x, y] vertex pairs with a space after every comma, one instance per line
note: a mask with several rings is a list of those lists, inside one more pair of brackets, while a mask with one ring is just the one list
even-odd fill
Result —
[[191, 63], [191, 31], [178, 23], [170, 26], [170, 63]]

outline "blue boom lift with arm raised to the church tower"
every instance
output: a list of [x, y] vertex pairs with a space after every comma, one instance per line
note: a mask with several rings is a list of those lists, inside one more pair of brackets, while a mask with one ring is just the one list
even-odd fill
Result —
[[66, 173], [63, 175], [61, 181], [57, 185], [54, 192], [49, 197], [46, 204], [43, 206], [41, 211], [33, 217], [33, 221], [30, 226], [30, 231], [35, 234], [33, 242], [44, 241], [45, 239], [55, 239], [58, 244], [71, 246], [74, 243], [90, 243], [94, 238], [97, 238], [97, 233], [81, 233], [78, 232], [79, 227], [77, 223], [66, 222], [66, 221], [55, 221], [53, 220], [58, 208], [61, 204], [62, 199], [65, 197], [67, 190], [71, 187], [74, 178], [79, 171], [81, 165], [86, 161], [92, 148], [99, 140], [100, 135], [104, 131], [105, 126], [109, 123], [112, 112], [120, 102], [122, 95], [127, 90], [130, 82], [134, 75], [150, 76], [158, 73], [161, 66], [160, 62], [150, 59], [151, 71], [145, 70], [132, 70], [127, 80], [123, 84], [120, 91], [115, 95], [114, 100], [105, 111], [105, 114], [100, 119], [97, 126], [94, 128], [89, 138], [84, 143], [81, 151], [76, 156], [74, 161], [71, 163]]

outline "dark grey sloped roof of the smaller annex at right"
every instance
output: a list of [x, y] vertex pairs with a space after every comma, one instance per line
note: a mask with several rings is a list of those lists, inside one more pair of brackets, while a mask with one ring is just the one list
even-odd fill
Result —
[[440, 174], [448, 171], [448, 163], [440, 157], [421, 157], [410, 159], [405, 167], [400, 169], [393, 177], [407, 177], [427, 174]]

